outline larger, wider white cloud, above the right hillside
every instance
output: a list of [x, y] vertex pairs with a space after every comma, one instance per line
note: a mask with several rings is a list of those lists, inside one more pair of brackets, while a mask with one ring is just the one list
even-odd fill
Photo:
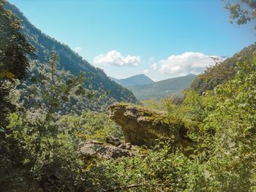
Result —
[[159, 72], [163, 74], [186, 75], [199, 74], [206, 66], [214, 65], [214, 60], [203, 53], [187, 52], [182, 55], [170, 55], [166, 60], [159, 61]]

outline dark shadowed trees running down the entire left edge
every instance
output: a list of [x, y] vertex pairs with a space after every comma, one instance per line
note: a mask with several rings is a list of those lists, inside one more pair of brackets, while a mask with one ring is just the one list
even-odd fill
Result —
[[[10, 182], [11, 178], [20, 179], [12, 176], [20, 174], [16, 172], [17, 167], [22, 166], [26, 155], [20, 141], [8, 137], [7, 115], [15, 111], [11, 93], [15, 80], [26, 76], [29, 57], [34, 53], [34, 47], [20, 31], [21, 21], [11, 11], [4, 9], [5, 2], [0, 0], [0, 191], [5, 190], [4, 183]], [[15, 172], [12, 172], [14, 169]]]

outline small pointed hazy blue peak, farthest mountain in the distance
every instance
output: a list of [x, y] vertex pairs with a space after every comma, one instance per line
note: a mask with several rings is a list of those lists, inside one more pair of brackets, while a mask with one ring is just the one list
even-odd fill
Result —
[[132, 77], [128, 77], [125, 79], [118, 80], [116, 78], [111, 77], [112, 80], [116, 81], [120, 85], [127, 87], [127, 86], [136, 86], [136, 85], [148, 85], [154, 82], [145, 74], [137, 74]]

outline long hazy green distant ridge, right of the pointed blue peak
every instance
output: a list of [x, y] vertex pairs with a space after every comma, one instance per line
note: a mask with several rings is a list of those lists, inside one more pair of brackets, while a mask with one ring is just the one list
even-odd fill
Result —
[[129, 90], [140, 101], [146, 99], [161, 99], [168, 95], [180, 96], [184, 89], [189, 88], [190, 84], [197, 77], [195, 74], [188, 74], [184, 77], [170, 78], [149, 85], [127, 86]]

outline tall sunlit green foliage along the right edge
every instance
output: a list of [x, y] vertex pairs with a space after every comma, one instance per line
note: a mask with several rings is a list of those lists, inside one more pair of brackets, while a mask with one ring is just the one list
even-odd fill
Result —
[[234, 80], [219, 86], [219, 103], [205, 126], [215, 128], [214, 150], [209, 159], [212, 179], [223, 191], [250, 191], [255, 187], [256, 57], [238, 64]]

